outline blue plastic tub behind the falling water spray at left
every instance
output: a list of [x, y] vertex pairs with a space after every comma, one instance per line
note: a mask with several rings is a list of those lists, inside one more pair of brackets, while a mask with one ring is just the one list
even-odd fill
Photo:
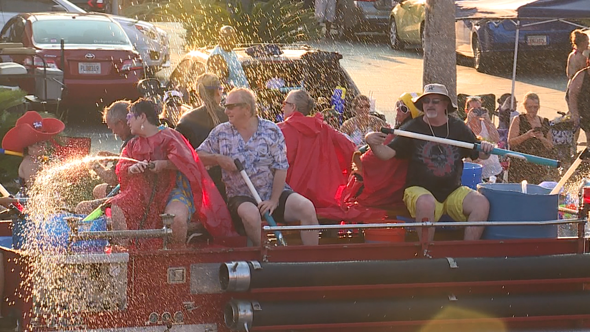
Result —
[[[37, 249], [50, 251], [65, 251], [70, 236], [70, 227], [65, 217], [85, 217], [81, 214], [62, 213], [48, 218], [41, 225], [34, 225], [31, 220], [17, 220], [12, 228], [12, 246], [15, 249]], [[37, 226], [37, 229], [33, 227]], [[107, 230], [106, 218], [82, 223], [78, 227], [80, 232]], [[108, 244], [107, 240], [81, 240], [72, 243], [73, 252], [103, 252]]]

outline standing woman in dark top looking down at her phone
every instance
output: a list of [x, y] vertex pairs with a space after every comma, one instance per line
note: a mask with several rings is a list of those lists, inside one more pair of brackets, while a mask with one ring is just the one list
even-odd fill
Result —
[[[526, 113], [514, 118], [508, 132], [508, 145], [511, 150], [534, 154], [540, 157], [552, 158], [553, 137], [549, 130], [549, 120], [541, 118], [539, 113], [539, 96], [529, 92], [525, 95], [522, 105]], [[527, 163], [512, 158], [508, 179], [517, 183], [527, 180], [529, 183], [539, 184], [547, 179], [548, 168], [542, 165]]]

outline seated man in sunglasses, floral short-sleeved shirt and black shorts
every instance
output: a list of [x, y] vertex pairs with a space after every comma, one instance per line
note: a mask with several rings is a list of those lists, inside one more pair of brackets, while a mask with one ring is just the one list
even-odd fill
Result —
[[[238, 232], [244, 230], [260, 246], [261, 216], [268, 212], [277, 223], [318, 224], [316, 210], [307, 198], [286, 184], [287, 147], [278, 126], [258, 116], [254, 93], [233, 89], [225, 100], [228, 122], [216, 126], [196, 149], [206, 166], [219, 165], [225, 183], [228, 209]], [[235, 167], [238, 158], [262, 202], [257, 204]], [[316, 231], [301, 232], [304, 245], [317, 245]]]

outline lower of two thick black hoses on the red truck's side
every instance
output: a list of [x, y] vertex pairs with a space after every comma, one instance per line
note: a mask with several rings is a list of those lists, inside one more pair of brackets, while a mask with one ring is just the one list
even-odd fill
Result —
[[[310, 302], [255, 302], [231, 300], [225, 323], [232, 330], [250, 327], [304, 324], [428, 321], [447, 310], [468, 310], [477, 317], [512, 318], [590, 314], [590, 294], [580, 291], [542, 295], [501, 295], [398, 298]], [[455, 311], [456, 312], [456, 311]], [[454, 317], [456, 318], [456, 317]], [[476, 318], [466, 315], [464, 318]]]

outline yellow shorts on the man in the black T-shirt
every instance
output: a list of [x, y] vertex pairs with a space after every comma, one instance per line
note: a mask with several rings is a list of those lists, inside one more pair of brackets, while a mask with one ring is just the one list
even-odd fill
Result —
[[[463, 200], [469, 193], [474, 191], [469, 187], [458, 187], [451, 193], [444, 202], [435, 201], [434, 222], [438, 222], [443, 214], [448, 214], [455, 222], [466, 222], [467, 216], [463, 214]], [[422, 195], [431, 195], [425, 188], [414, 186], [404, 191], [404, 203], [412, 218], [416, 217], [416, 201]]]

